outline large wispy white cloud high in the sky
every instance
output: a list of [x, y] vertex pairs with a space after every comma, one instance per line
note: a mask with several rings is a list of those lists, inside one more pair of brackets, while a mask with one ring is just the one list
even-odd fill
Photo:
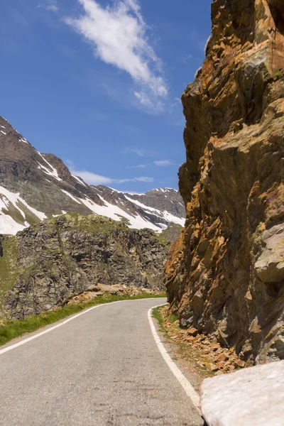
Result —
[[127, 72], [137, 89], [133, 94], [142, 107], [161, 111], [168, 87], [161, 62], [148, 43], [148, 27], [138, 0], [115, 1], [101, 6], [97, 0], [77, 0], [83, 8], [77, 18], [66, 17], [94, 48], [94, 54], [107, 64]]

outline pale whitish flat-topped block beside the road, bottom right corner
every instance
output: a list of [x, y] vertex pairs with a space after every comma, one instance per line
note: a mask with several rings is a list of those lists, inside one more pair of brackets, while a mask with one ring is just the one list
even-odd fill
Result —
[[283, 426], [284, 361], [206, 378], [201, 409], [209, 426]]

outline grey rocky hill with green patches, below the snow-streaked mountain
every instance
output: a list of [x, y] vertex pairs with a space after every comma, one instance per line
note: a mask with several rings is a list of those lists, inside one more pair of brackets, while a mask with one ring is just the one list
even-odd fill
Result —
[[3, 241], [0, 313], [21, 319], [91, 285], [163, 290], [168, 254], [153, 231], [94, 215], [66, 214]]

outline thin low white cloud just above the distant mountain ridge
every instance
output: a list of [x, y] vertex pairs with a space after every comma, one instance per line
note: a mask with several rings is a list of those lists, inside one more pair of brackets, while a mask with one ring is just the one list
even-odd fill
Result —
[[113, 179], [107, 176], [97, 175], [97, 173], [88, 172], [87, 170], [77, 170], [70, 160], [66, 160], [66, 164], [72, 173], [72, 175], [79, 176], [87, 182], [89, 185], [111, 185], [112, 183], [126, 183], [126, 182], [153, 182], [153, 178], [141, 176], [138, 178], [126, 178], [126, 179]]

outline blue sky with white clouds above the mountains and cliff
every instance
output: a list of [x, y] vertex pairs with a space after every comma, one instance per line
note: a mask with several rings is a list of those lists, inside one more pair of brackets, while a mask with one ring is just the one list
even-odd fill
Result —
[[178, 187], [211, 0], [1, 2], [0, 115], [94, 185]]

